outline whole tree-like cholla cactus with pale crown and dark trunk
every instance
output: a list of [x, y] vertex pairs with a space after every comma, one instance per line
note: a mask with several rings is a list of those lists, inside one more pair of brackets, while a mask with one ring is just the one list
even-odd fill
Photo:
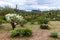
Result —
[[13, 30], [16, 27], [16, 23], [23, 21], [23, 17], [18, 14], [6, 14], [5, 18], [9, 23], [11, 23]]

